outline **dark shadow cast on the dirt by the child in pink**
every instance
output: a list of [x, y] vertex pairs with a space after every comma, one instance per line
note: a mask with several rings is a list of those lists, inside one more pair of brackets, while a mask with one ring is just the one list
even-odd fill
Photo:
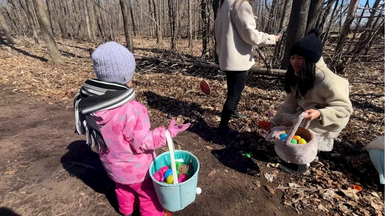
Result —
[[[102, 193], [108, 199], [111, 206], [119, 213], [119, 205], [115, 193], [115, 182], [105, 172], [99, 154], [92, 151], [84, 140], [74, 141], [68, 145], [68, 152], [62, 156], [60, 162], [71, 177], [76, 177], [92, 188], [96, 193]], [[78, 166], [71, 161], [86, 164], [93, 168]], [[2, 215], [2, 214], [0, 214]], [[139, 214], [132, 214], [139, 216]]]

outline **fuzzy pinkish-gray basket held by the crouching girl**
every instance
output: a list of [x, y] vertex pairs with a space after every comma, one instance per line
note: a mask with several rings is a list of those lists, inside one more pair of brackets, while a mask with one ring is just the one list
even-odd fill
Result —
[[[316, 135], [313, 131], [308, 130], [310, 121], [306, 121], [304, 128], [298, 128], [307, 113], [301, 113], [298, 116], [298, 121], [291, 128], [276, 133], [275, 141], [275, 152], [282, 159], [290, 163], [295, 164], [307, 164], [315, 159], [318, 153], [318, 143]], [[280, 139], [280, 135], [286, 133], [287, 137], [285, 141]], [[306, 144], [293, 144], [291, 139], [293, 136], [298, 135], [304, 138]]]

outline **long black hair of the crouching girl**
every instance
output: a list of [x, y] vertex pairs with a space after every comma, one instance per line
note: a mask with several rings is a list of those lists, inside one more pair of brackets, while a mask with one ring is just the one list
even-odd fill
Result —
[[290, 63], [285, 75], [285, 91], [286, 93], [291, 93], [291, 87], [297, 86], [295, 98], [300, 100], [313, 88], [315, 79], [315, 63], [313, 61], [306, 60], [305, 58], [300, 76], [295, 75], [294, 68]]

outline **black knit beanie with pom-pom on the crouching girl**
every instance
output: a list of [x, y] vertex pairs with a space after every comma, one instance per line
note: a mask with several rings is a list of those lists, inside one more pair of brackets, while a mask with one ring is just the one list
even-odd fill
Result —
[[300, 55], [316, 63], [320, 60], [322, 51], [323, 43], [320, 39], [320, 31], [318, 28], [313, 28], [306, 37], [294, 43], [290, 49], [290, 55]]

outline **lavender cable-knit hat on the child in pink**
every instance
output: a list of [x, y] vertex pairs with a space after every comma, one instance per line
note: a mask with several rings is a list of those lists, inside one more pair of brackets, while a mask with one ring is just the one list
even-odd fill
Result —
[[127, 84], [134, 76], [135, 58], [119, 43], [100, 45], [92, 53], [92, 61], [96, 77], [100, 81]]

